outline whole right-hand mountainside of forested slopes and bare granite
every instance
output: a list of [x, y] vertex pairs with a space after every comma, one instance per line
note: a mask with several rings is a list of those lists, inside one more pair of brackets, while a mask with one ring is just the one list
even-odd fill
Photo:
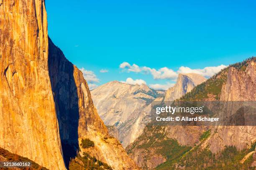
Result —
[[[230, 65], [179, 100], [255, 101], [255, 63], [256, 58], [252, 57]], [[246, 170], [256, 164], [255, 136], [255, 126], [159, 127], [148, 124], [126, 150], [144, 169]]]

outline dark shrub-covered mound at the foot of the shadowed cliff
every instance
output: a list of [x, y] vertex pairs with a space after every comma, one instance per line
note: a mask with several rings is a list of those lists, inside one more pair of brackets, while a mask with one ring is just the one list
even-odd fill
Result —
[[95, 157], [83, 153], [83, 156], [78, 155], [70, 161], [69, 170], [112, 170], [112, 168]]

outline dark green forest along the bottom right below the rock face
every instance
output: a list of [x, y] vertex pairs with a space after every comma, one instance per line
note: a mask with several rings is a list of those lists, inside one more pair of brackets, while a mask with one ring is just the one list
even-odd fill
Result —
[[226, 147], [222, 153], [213, 154], [210, 150], [200, 150], [196, 146], [190, 152], [171, 162], [165, 162], [159, 165], [157, 170], [254, 170], [250, 167], [253, 162], [252, 155], [242, 164], [241, 160], [255, 149], [255, 143], [250, 149], [238, 151], [236, 147]]

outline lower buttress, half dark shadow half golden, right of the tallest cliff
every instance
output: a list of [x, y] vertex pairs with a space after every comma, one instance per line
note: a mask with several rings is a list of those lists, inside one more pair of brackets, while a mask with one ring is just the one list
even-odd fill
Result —
[[49, 39], [49, 73], [54, 93], [59, 133], [65, 162], [74, 158], [83, 138], [95, 143], [92, 149], [81, 150], [115, 170], [135, 169], [122, 145], [110, 138], [108, 129], [97, 114], [82, 72], [69, 62]]

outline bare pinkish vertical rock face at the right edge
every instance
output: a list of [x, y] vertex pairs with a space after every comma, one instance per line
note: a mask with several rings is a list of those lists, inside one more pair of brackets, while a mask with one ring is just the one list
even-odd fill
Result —
[[[256, 63], [248, 63], [246, 70], [230, 67], [227, 81], [221, 90], [220, 100], [223, 101], [255, 101], [256, 99]], [[213, 153], [220, 152], [225, 146], [236, 146], [238, 150], [251, 146], [256, 141], [255, 126], [218, 126], [212, 127], [209, 141]]]

